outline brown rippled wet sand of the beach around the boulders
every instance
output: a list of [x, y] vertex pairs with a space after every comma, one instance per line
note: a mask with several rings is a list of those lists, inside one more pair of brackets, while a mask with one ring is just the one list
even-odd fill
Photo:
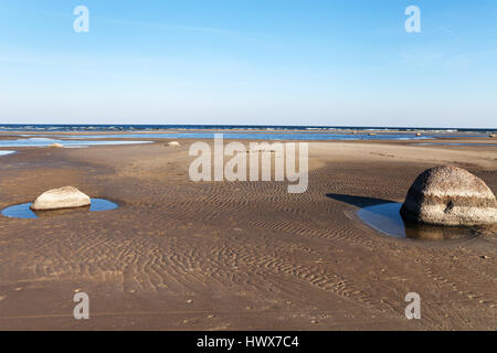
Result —
[[[308, 190], [288, 194], [287, 182], [191, 182], [191, 142], [0, 157], [1, 208], [63, 185], [119, 204], [0, 217], [0, 329], [497, 329], [495, 228], [415, 242], [356, 215], [402, 202], [420, 172], [442, 163], [496, 193], [497, 149], [310, 142]], [[89, 320], [73, 318], [76, 291], [89, 296]], [[421, 295], [421, 320], [404, 317], [408, 292]]]

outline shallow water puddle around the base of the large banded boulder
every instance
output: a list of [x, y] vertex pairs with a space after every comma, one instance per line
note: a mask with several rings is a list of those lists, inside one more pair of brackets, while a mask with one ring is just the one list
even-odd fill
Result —
[[465, 239], [477, 233], [464, 227], [436, 227], [405, 223], [400, 214], [402, 203], [384, 203], [368, 206], [357, 212], [358, 216], [374, 229], [399, 238], [422, 240]]

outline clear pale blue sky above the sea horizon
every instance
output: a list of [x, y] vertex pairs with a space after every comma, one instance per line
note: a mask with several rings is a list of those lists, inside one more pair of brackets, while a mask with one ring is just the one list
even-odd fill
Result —
[[0, 0], [0, 124], [496, 121], [495, 0]]

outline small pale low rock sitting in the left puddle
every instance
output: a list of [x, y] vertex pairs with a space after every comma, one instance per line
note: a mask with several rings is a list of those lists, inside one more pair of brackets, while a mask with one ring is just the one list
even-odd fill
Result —
[[74, 186], [64, 186], [42, 193], [30, 206], [33, 211], [89, 206], [89, 196]]

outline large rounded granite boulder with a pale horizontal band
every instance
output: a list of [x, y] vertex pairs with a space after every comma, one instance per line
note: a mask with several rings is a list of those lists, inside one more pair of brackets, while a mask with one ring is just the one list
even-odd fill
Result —
[[412, 223], [444, 226], [497, 224], [497, 202], [485, 182], [467, 170], [452, 165], [421, 173], [401, 207]]

